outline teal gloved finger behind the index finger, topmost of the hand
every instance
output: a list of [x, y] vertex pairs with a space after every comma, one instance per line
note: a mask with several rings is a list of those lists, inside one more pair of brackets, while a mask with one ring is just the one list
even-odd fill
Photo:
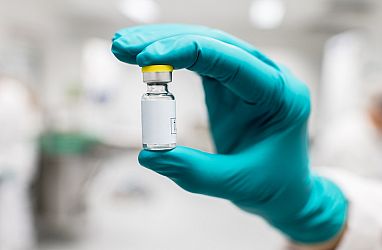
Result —
[[155, 41], [179, 35], [198, 35], [214, 38], [239, 47], [264, 63], [278, 69], [278, 66], [251, 44], [221, 30], [205, 26], [184, 24], [154, 24], [125, 28], [115, 33], [112, 51], [117, 58], [127, 63], [135, 63], [136, 56]]

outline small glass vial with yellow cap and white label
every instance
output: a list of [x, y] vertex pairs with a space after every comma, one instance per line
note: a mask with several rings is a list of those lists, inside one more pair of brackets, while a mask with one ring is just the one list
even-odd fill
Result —
[[176, 147], [175, 97], [168, 91], [172, 81], [171, 65], [142, 67], [147, 92], [141, 99], [142, 144], [146, 150], [169, 150]]

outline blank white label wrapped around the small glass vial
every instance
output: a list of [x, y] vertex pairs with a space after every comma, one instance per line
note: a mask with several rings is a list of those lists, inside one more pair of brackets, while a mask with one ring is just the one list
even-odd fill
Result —
[[176, 143], [175, 100], [142, 101], [142, 143]]

